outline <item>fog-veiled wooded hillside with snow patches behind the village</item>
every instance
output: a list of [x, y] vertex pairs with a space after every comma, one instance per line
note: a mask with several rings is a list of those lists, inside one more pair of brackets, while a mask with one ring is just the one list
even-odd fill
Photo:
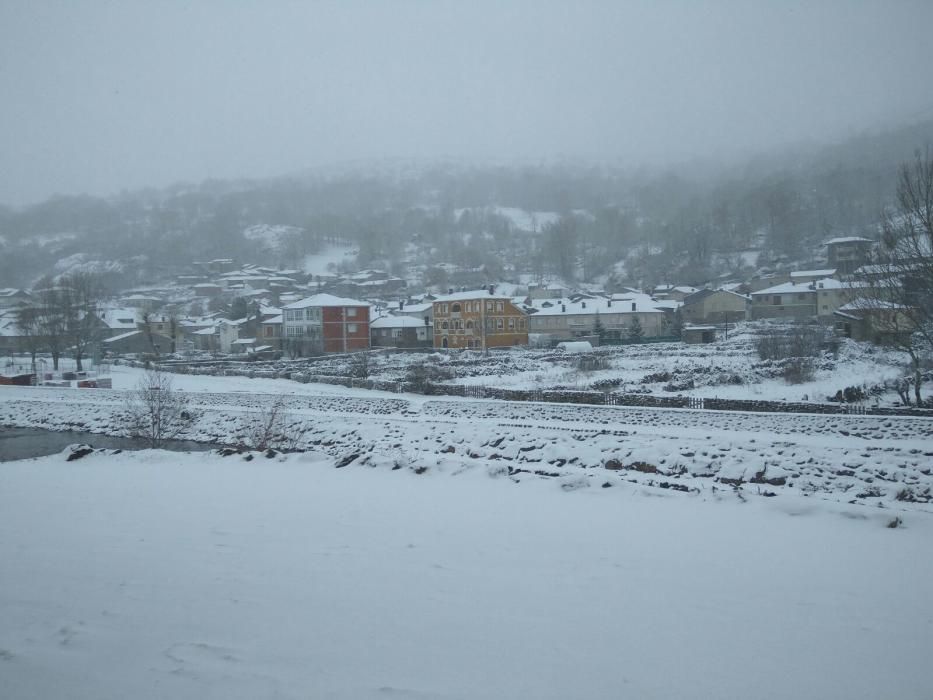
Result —
[[[62, 259], [107, 261], [118, 287], [217, 256], [290, 266], [341, 241], [359, 249], [359, 267], [398, 275], [447, 263], [491, 279], [702, 284], [816, 264], [834, 235], [874, 236], [897, 165], [931, 141], [928, 119], [732, 165], [382, 160], [59, 196], [0, 208], [0, 279], [28, 286]], [[257, 226], [292, 228], [245, 235]]]

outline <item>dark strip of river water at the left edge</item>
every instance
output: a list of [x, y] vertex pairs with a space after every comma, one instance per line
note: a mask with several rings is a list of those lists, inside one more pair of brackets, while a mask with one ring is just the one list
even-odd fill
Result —
[[[111, 450], [144, 450], [149, 447], [145, 440], [137, 438], [110, 437], [79, 431], [56, 432], [40, 428], [0, 427], [0, 462], [57, 454], [68, 445], [75, 443], [106, 447]], [[174, 452], [205, 452], [215, 447], [219, 445], [190, 440], [166, 440], [162, 444], [163, 450]]]

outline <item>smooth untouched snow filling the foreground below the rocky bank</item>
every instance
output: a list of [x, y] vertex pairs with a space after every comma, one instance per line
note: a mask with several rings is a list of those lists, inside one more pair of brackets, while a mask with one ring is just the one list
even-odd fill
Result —
[[930, 697], [928, 514], [487, 467], [2, 464], [3, 697]]

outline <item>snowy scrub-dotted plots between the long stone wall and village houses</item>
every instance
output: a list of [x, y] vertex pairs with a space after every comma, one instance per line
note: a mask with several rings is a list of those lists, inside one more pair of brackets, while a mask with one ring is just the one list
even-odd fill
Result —
[[[436, 383], [817, 403], [858, 387], [868, 404], [900, 405], [890, 385], [908, 374], [904, 353], [842, 340], [837, 353], [827, 352], [815, 360], [812, 379], [791, 384], [784, 379], [781, 362], [762, 361], [758, 356], [759, 334], [773, 327], [743, 324], [710, 345], [677, 342], [598, 348], [589, 357], [596, 361], [595, 367], [582, 365], [580, 353], [513, 348], [488, 355], [373, 352], [368, 372], [372, 379], [404, 381], [413, 367], [427, 365]], [[246, 369], [263, 366], [346, 377], [355, 376], [353, 363], [352, 356], [329, 356], [310, 362], [256, 363]]]

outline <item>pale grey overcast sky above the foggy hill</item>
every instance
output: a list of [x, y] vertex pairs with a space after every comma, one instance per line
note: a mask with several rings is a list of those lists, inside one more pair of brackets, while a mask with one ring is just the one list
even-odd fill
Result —
[[0, 0], [0, 202], [834, 140], [933, 116], [931, 26], [930, 0]]

